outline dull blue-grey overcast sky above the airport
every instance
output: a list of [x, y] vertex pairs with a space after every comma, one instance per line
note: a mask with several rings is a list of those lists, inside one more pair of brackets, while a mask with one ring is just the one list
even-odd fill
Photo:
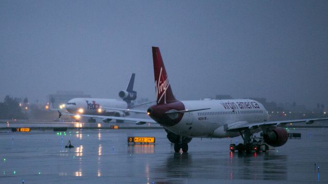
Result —
[[152, 46], [180, 100], [328, 105], [328, 1], [0, 1], [0, 98], [116, 98], [136, 73], [155, 99]]

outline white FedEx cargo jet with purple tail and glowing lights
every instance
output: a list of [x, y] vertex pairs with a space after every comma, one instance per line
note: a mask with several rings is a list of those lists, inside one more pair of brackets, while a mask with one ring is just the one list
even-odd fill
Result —
[[[89, 122], [95, 122], [94, 118], [98, 116], [113, 116], [125, 117], [128, 113], [119, 110], [103, 110], [100, 107], [113, 107], [113, 108], [129, 108], [132, 100], [137, 98], [137, 92], [133, 90], [135, 74], [131, 75], [130, 82], [126, 90], [119, 91], [118, 96], [123, 100], [116, 99], [97, 99], [97, 98], [74, 98], [67, 102], [66, 110], [74, 114], [75, 118], [80, 118], [82, 114], [88, 115]], [[68, 113], [61, 113], [69, 115]], [[104, 119], [104, 118], [103, 118]], [[104, 122], [109, 122], [111, 119], [105, 118]], [[121, 122], [121, 120], [116, 120]]]

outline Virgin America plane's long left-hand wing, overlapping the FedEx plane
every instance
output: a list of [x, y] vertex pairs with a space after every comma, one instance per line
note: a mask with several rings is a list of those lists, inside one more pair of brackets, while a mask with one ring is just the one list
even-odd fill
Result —
[[97, 115], [89, 115], [89, 114], [74, 114], [74, 113], [61, 113], [59, 112], [59, 118], [63, 115], [66, 116], [80, 116], [80, 117], [88, 117], [88, 118], [100, 118], [104, 120], [125, 120], [125, 121], [133, 121], [137, 125], [142, 125], [145, 123], [157, 123], [152, 119], [142, 119], [142, 118], [126, 118], [126, 117], [113, 117], [113, 116], [97, 116]]

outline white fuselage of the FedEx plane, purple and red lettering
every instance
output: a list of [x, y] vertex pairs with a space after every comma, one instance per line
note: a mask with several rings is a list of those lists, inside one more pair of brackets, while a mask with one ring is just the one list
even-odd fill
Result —
[[[100, 107], [128, 108], [125, 101], [116, 99], [75, 98], [67, 102], [66, 110], [70, 113], [101, 115], [115, 110], [105, 110]], [[121, 113], [121, 112], [120, 112]]]

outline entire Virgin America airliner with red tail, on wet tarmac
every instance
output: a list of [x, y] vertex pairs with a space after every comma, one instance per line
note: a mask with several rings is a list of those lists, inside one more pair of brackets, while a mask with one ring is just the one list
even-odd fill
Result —
[[[288, 123], [312, 124], [314, 121], [328, 120], [302, 119], [288, 121], [269, 121], [264, 106], [251, 99], [235, 100], [193, 100], [179, 101], [174, 95], [168, 79], [159, 48], [153, 47], [156, 104], [146, 111], [108, 108], [147, 113], [152, 120], [128, 118], [136, 124], [159, 123], [167, 132], [175, 152], [188, 151], [188, 143], [193, 137], [226, 138], [242, 136], [243, 144], [236, 146], [238, 152], [250, 153], [252, 150], [267, 151], [268, 145], [279, 147], [288, 140], [284, 125]], [[113, 118], [113, 117], [111, 117]], [[114, 119], [114, 118], [113, 118]], [[254, 145], [252, 134], [261, 132], [261, 148]], [[235, 145], [234, 145], [235, 146]], [[257, 146], [257, 145], [256, 145]], [[230, 149], [234, 149], [232, 146]]]

